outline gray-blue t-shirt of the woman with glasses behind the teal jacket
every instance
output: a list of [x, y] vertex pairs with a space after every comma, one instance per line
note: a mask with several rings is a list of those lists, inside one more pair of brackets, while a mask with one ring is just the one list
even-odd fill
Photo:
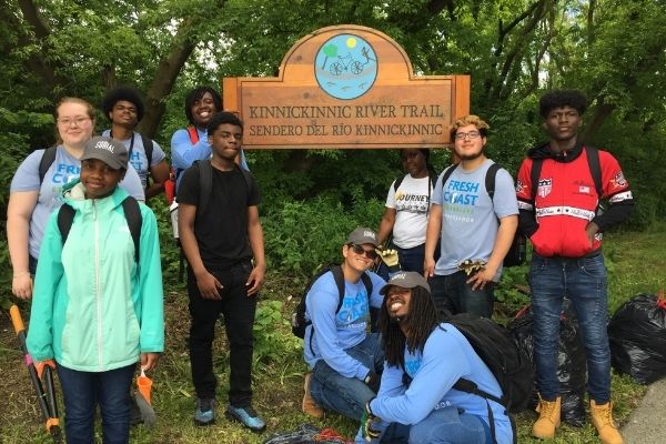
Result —
[[[49, 216], [62, 205], [62, 186], [79, 178], [81, 161], [71, 155], [62, 145], [58, 145], [56, 159], [39, 183], [39, 163], [44, 150], [36, 150], [28, 155], [17, 169], [11, 180], [10, 192], [39, 191], [39, 196], [30, 218], [29, 252], [32, 258], [39, 258], [39, 248], [44, 235]], [[120, 186], [139, 201], [145, 200], [141, 179], [130, 165]]]

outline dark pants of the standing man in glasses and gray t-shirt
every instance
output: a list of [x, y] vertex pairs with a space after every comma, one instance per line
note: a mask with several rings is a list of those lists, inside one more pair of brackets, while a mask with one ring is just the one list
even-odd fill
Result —
[[474, 313], [490, 319], [493, 315], [495, 283], [486, 283], [483, 290], [472, 290], [468, 279], [464, 271], [432, 276], [428, 284], [435, 306], [451, 314]]

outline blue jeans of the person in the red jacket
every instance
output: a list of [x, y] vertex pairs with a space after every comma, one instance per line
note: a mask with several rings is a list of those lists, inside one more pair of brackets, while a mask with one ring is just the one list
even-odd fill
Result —
[[610, 400], [610, 349], [606, 331], [608, 297], [604, 256], [563, 259], [533, 254], [529, 289], [534, 314], [536, 386], [546, 401], [559, 394], [557, 340], [562, 301], [572, 301], [587, 353], [587, 392], [597, 404]]

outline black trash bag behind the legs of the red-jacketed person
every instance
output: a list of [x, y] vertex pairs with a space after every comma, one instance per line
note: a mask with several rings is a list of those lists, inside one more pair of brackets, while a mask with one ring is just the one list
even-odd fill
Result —
[[[533, 314], [529, 309], [523, 310], [509, 323], [508, 329], [534, 363], [534, 345], [532, 342]], [[585, 392], [587, 382], [587, 357], [581, 339], [576, 313], [568, 300], [563, 303], [559, 321], [559, 341], [557, 345], [557, 379], [562, 396], [562, 421], [575, 427], [585, 424]], [[531, 407], [536, 407], [538, 396], [535, 387]]]

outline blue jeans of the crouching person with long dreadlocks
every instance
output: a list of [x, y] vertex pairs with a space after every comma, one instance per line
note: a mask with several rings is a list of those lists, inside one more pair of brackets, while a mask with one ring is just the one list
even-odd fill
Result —
[[[356, 443], [364, 442], [357, 434]], [[392, 423], [379, 442], [382, 444], [490, 444], [493, 440], [491, 427], [485, 421], [464, 413], [455, 406], [448, 406], [433, 410], [423, 421], [412, 426]]]

